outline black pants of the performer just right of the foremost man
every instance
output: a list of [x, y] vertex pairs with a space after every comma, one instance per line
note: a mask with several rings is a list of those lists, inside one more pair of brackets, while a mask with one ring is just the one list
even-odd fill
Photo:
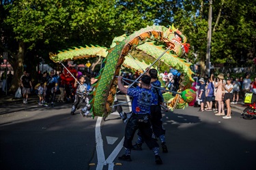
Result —
[[154, 134], [156, 137], [160, 137], [160, 135], [165, 135], [165, 129], [162, 126], [162, 112], [160, 105], [152, 105], [150, 108], [151, 112], [151, 123]]

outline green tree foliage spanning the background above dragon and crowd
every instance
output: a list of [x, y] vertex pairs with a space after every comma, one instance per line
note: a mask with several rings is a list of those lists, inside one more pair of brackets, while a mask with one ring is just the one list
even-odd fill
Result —
[[[255, 0], [213, 1], [213, 64], [228, 61], [235, 67], [241, 65], [242, 56], [246, 60], [255, 57], [255, 4]], [[47, 62], [48, 52], [89, 44], [109, 47], [114, 37], [124, 33], [174, 23], [188, 37], [186, 57], [204, 63], [208, 10], [208, 1], [203, 0], [4, 1], [0, 3], [0, 50], [15, 55], [18, 42], [23, 42], [25, 61], [38, 55]]]

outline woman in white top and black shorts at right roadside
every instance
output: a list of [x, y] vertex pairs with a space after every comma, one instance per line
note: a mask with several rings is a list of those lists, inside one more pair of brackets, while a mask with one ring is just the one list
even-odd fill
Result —
[[233, 84], [231, 84], [231, 78], [227, 78], [227, 84], [225, 85], [224, 101], [227, 105], [227, 115], [223, 116], [224, 119], [231, 118], [230, 101], [233, 98]]

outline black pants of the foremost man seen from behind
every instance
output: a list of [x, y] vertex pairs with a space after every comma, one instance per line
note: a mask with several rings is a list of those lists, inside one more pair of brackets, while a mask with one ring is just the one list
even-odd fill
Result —
[[137, 129], [141, 131], [141, 136], [143, 137], [143, 140], [147, 144], [148, 148], [152, 149], [154, 147], [159, 147], [158, 143], [156, 142], [156, 138], [154, 137], [154, 133], [152, 131], [150, 118], [149, 116], [147, 116], [146, 119], [145, 116], [146, 115], [132, 114], [132, 116], [128, 120], [124, 135], [125, 148], [132, 148], [132, 139]]

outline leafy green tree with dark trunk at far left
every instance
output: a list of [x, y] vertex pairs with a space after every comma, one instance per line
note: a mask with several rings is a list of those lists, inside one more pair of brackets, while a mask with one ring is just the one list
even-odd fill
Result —
[[[5, 12], [4, 20], [1, 21], [5, 25], [1, 28], [1, 48], [11, 54], [9, 62], [14, 68], [14, 80], [19, 80], [23, 73], [24, 57], [27, 52], [33, 50], [40, 41], [44, 44], [49, 44], [53, 39], [61, 42], [61, 34], [68, 34], [69, 29], [63, 29], [68, 25], [66, 19], [70, 17], [69, 9], [65, 6], [77, 1], [65, 2], [60, 4], [58, 1], [21, 0], [5, 1], [5, 4], [1, 4], [1, 10]], [[59, 33], [59, 29], [65, 31]], [[13, 42], [14, 45], [17, 44], [16, 50], [12, 46]], [[27, 57], [33, 61], [34, 56]], [[11, 90], [14, 91], [17, 86], [18, 81], [15, 81]]]

